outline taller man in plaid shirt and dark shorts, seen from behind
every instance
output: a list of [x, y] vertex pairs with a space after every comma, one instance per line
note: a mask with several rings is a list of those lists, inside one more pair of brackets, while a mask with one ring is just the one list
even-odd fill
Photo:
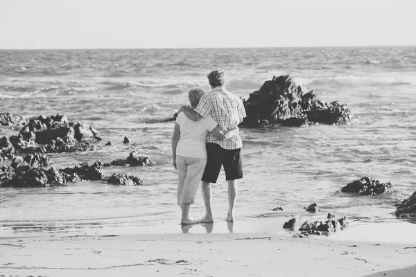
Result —
[[[224, 77], [225, 71], [222, 69], [209, 73], [208, 80], [212, 90], [200, 98], [200, 102], [194, 110], [182, 107], [178, 113], [183, 111], [193, 121], [210, 114], [223, 132], [239, 125], [246, 116], [243, 101], [225, 89]], [[207, 166], [205, 166], [204, 175], [202, 175], [202, 197], [205, 202], [205, 216], [202, 217], [202, 222], [214, 222], [211, 211], [211, 183], [216, 183], [221, 166], [224, 168], [225, 179], [228, 183], [226, 220], [234, 221], [234, 206], [238, 193], [236, 179], [243, 178], [242, 146], [239, 134], [224, 141], [218, 141], [211, 133], [208, 134]]]

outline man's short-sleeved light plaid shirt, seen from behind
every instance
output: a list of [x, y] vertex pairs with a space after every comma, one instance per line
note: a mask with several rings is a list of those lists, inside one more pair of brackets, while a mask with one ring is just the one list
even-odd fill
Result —
[[[227, 132], [229, 129], [233, 129], [239, 125], [246, 116], [243, 101], [233, 93], [229, 93], [223, 86], [216, 87], [209, 91], [209, 93], [203, 95], [200, 98], [198, 107], [196, 107], [194, 111], [202, 117], [211, 114], [212, 118], [216, 120], [218, 127], [220, 127], [223, 132]], [[219, 144], [224, 149], [238, 149], [243, 146], [239, 134], [224, 141], [218, 141], [218, 139], [209, 132], [207, 143]]]

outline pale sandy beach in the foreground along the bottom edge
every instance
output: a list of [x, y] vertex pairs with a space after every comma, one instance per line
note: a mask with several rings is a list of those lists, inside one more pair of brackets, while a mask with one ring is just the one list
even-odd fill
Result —
[[343, 231], [294, 238], [275, 221], [8, 235], [0, 276], [416, 276], [414, 242], [346, 240]]

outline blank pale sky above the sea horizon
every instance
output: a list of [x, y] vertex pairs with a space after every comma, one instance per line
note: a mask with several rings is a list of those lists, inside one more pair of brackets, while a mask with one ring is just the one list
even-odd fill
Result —
[[0, 49], [416, 45], [413, 0], [0, 0]]

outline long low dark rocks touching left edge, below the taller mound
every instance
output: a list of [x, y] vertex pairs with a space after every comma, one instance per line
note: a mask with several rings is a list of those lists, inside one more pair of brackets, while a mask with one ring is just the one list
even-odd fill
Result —
[[28, 159], [30, 166], [21, 157], [16, 157], [11, 166], [0, 168], [0, 186], [13, 187], [38, 187], [57, 186], [67, 182], [82, 180], [101, 180], [103, 164], [96, 161], [94, 164], [82, 163], [74, 168], [37, 168], [36, 165], [44, 164], [42, 158], [36, 156]]

